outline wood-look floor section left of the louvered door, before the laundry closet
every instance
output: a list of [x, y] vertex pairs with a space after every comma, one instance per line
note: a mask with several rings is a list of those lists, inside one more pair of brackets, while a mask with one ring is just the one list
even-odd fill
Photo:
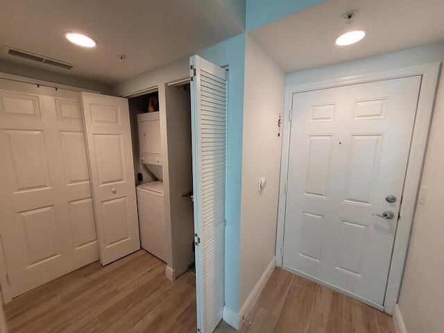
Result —
[[10, 333], [195, 333], [194, 274], [170, 282], [165, 264], [139, 250], [44, 284], [5, 310]]

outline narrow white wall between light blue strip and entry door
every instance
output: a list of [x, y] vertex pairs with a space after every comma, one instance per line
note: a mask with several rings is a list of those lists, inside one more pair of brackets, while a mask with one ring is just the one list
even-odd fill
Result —
[[[242, 142], [239, 308], [275, 257], [284, 110], [284, 72], [250, 37], [246, 38], [244, 135]], [[257, 191], [258, 178], [266, 188]]]

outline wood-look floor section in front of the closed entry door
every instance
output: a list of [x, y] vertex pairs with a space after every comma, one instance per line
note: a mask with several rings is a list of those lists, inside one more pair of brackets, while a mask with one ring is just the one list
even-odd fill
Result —
[[275, 268], [239, 331], [217, 333], [395, 333], [391, 316], [298, 275]]

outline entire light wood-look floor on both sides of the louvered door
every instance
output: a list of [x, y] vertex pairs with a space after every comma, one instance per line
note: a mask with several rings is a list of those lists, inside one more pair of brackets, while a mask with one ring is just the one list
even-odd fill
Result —
[[[10, 333], [195, 333], [194, 274], [175, 282], [144, 250], [94, 262], [6, 305]], [[391, 317], [275, 268], [241, 333], [395, 333]], [[216, 333], [237, 332], [221, 322]]]

